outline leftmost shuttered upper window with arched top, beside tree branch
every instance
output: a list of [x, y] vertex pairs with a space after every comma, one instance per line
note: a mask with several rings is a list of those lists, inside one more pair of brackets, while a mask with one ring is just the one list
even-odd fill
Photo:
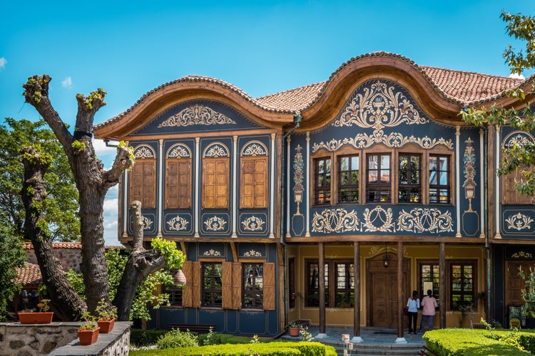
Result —
[[149, 145], [134, 149], [136, 163], [130, 171], [130, 199], [141, 201], [143, 209], [156, 208], [156, 154]]

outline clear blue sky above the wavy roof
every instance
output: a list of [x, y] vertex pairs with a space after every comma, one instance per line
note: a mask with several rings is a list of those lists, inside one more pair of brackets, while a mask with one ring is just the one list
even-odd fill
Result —
[[[21, 85], [53, 78], [50, 96], [73, 125], [76, 93], [108, 92], [103, 122], [184, 75], [225, 80], [253, 97], [327, 80], [374, 51], [417, 64], [509, 75], [501, 10], [535, 14], [535, 1], [3, 1], [0, 118], [36, 120]], [[527, 73], [529, 74], [529, 73]], [[109, 166], [113, 150], [99, 157]], [[105, 206], [116, 239], [117, 192]]]

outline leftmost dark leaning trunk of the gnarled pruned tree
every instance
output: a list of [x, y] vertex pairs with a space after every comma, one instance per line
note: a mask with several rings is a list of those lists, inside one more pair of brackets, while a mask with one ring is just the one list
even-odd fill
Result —
[[86, 303], [68, 283], [59, 260], [54, 256], [51, 238], [46, 234], [46, 230], [41, 229], [44, 221], [40, 207], [46, 199], [44, 174], [48, 163], [40, 152], [31, 147], [25, 147], [21, 152], [24, 163], [22, 201], [26, 209], [25, 237], [34, 244], [41, 276], [51, 296], [54, 313], [63, 321], [78, 320]]

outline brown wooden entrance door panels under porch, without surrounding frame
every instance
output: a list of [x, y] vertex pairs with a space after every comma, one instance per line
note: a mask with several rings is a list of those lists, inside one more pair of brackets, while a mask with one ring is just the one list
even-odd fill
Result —
[[397, 273], [372, 273], [372, 325], [397, 325]]

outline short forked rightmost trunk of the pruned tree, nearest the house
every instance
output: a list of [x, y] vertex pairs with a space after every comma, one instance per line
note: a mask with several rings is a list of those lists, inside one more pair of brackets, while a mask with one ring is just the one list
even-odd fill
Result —
[[141, 201], [131, 204], [133, 224], [133, 250], [128, 256], [121, 283], [113, 299], [117, 307], [117, 319], [128, 320], [132, 308], [133, 298], [139, 283], [148, 275], [165, 267], [165, 259], [159, 251], [143, 248], [143, 216], [141, 215]]

